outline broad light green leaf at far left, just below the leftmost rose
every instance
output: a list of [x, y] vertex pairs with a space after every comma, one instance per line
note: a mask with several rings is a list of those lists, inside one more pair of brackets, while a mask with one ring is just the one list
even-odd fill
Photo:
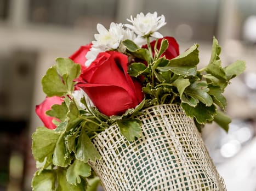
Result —
[[60, 134], [46, 127], [38, 127], [32, 135], [32, 152], [33, 156], [39, 162], [43, 162], [45, 157], [52, 156], [59, 139]]

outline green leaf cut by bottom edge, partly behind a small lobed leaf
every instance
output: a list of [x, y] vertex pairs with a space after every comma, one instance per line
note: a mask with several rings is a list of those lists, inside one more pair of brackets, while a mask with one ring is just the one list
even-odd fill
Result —
[[58, 170], [58, 174], [57, 174], [58, 185], [56, 187], [56, 191], [67, 191], [67, 190], [86, 191], [86, 184], [82, 178], [81, 178], [81, 183], [77, 185], [70, 184], [69, 182], [67, 182], [66, 173], [67, 171], [65, 169]]

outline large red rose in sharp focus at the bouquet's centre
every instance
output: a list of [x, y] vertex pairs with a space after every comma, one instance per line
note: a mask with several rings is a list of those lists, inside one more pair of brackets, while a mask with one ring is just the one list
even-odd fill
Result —
[[101, 52], [77, 79], [77, 86], [107, 116], [122, 115], [144, 98], [140, 83], [127, 73], [127, 65], [126, 55], [115, 51]]

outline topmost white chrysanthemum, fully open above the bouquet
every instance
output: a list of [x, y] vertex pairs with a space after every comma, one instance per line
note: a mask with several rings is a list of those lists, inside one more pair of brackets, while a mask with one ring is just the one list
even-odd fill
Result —
[[163, 38], [163, 35], [157, 32], [158, 29], [166, 25], [166, 19], [163, 15], [157, 16], [156, 12], [153, 14], [147, 13], [146, 15], [140, 13], [134, 19], [130, 16], [130, 19], [127, 20], [131, 22], [132, 25], [126, 24], [125, 26], [141, 37], [150, 35], [155, 38]]

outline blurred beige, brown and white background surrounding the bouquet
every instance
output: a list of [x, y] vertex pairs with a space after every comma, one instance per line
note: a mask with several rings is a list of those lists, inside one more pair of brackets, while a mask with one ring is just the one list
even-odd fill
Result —
[[223, 65], [247, 62], [226, 89], [230, 132], [211, 125], [203, 139], [229, 191], [256, 190], [256, 0], [0, 0], [0, 190], [31, 190], [36, 171], [31, 134], [41, 122], [35, 105], [41, 77], [57, 57], [69, 57], [93, 40], [96, 24], [127, 23], [130, 15], [166, 16], [162, 34], [177, 38], [180, 52], [200, 44], [208, 64], [213, 35]]

